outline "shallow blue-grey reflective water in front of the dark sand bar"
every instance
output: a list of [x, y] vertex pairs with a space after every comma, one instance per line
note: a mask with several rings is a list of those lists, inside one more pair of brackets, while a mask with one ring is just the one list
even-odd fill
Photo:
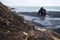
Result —
[[45, 26], [48, 26], [48, 28], [60, 28], [60, 18], [51, 18], [50, 16], [46, 15], [45, 20], [41, 20], [40, 17], [33, 17], [28, 15], [21, 15], [24, 16], [25, 20], [33, 21]]

